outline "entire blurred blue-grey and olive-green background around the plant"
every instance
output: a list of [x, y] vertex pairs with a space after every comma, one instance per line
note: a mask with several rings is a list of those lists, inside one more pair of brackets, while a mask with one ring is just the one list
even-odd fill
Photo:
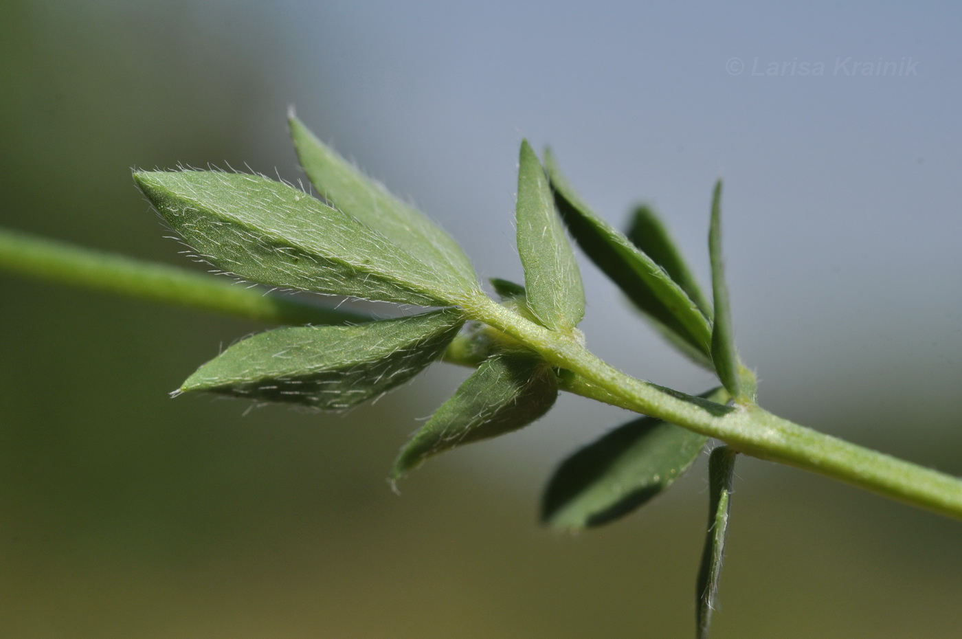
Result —
[[[7, 0], [0, 223], [196, 268], [131, 167], [297, 179], [290, 105], [485, 277], [521, 278], [522, 137], [612, 222], [654, 204], [702, 276], [721, 176], [762, 403], [962, 474], [960, 19], [949, 2]], [[583, 272], [595, 352], [711, 385]], [[537, 524], [554, 465], [621, 411], [562, 397], [397, 497], [397, 448], [468, 371], [343, 416], [248, 414], [167, 392], [264, 326], [0, 286], [0, 636], [692, 635], [703, 463], [618, 524]], [[713, 637], [958, 636], [960, 524], [752, 459], [738, 475]]]

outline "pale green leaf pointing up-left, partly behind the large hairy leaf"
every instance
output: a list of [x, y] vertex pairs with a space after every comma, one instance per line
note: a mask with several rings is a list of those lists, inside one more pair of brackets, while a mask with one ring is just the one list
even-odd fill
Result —
[[448, 270], [462, 284], [474, 286], [477, 276], [468, 256], [440, 226], [317, 140], [292, 114], [289, 123], [301, 166], [324, 199], [431, 268]]

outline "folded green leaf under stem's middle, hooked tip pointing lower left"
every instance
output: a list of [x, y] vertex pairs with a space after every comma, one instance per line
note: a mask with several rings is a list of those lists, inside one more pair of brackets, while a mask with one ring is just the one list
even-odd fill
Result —
[[393, 478], [445, 450], [518, 430], [542, 417], [557, 396], [557, 377], [539, 356], [495, 355], [471, 373], [401, 449]]

